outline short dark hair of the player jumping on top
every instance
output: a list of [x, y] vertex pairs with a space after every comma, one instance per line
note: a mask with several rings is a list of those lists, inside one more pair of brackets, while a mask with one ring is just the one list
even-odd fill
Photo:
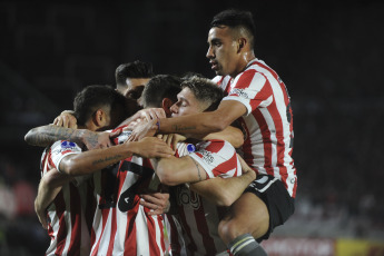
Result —
[[228, 9], [217, 13], [210, 22], [210, 28], [227, 26], [232, 29], [245, 29], [249, 37], [249, 43], [254, 47], [256, 28], [250, 11]]

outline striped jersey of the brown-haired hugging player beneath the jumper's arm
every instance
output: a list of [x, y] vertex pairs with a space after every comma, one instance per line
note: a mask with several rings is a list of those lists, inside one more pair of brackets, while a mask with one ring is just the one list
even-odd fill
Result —
[[[183, 147], [178, 146], [179, 157], [186, 155]], [[242, 175], [236, 150], [227, 141], [203, 141], [189, 156], [204, 167], [209, 178]], [[177, 214], [167, 215], [171, 255], [216, 255], [226, 252], [227, 247], [218, 236], [218, 224], [226, 208], [197, 195], [187, 185], [177, 186], [176, 197]]]

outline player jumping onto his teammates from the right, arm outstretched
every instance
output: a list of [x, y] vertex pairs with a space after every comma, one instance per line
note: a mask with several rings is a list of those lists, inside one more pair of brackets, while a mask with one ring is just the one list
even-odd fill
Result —
[[214, 81], [228, 96], [215, 111], [159, 118], [141, 124], [132, 135], [179, 132], [188, 137], [223, 130], [239, 119], [246, 129], [242, 147], [257, 178], [230, 207], [219, 234], [234, 255], [266, 255], [259, 242], [294, 213], [297, 177], [293, 152], [291, 98], [279, 76], [254, 52], [250, 12], [225, 10], [208, 32], [207, 58]]

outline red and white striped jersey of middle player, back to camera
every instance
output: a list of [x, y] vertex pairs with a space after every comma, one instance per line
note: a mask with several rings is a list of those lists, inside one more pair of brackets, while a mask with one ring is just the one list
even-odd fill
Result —
[[[119, 136], [118, 142], [127, 138]], [[97, 209], [90, 255], [165, 255], [164, 219], [139, 204], [144, 190], [160, 183], [149, 159], [129, 157], [93, 175]]]

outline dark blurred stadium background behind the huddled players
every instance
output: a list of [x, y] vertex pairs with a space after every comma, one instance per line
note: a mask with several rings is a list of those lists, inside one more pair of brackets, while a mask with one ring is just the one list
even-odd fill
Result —
[[214, 77], [208, 24], [226, 8], [254, 13], [256, 56], [293, 101], [296, 213], [278, 236], [384, 237], [382, 1], [1, 1], [0, 255], [42, 255], [33, 211], [41, 148], [23, 136], [71, 109], [88, 85], [150, 61], [156, 73]]

